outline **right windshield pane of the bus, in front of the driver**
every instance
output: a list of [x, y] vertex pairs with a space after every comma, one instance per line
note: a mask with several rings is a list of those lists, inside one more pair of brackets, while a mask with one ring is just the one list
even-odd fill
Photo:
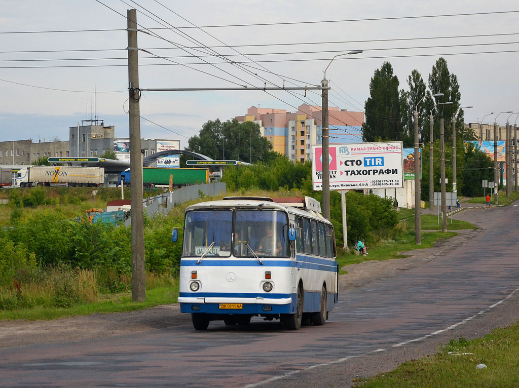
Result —
[[[289, 257], [288, 217], [275, 210], [237, 210], [234, 231], [236, 257]], [[252, 253], [254, 252], [254, 254]]]

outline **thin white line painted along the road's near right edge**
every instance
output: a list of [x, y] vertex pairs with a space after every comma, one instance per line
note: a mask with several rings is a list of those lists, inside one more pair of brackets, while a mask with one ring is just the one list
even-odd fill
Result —
[[[426, 336], [422, 336], [422, 337], [415, 338], [415, 339], [412, 339], [412, 340], [409, 340], [409, 341], [405, 341], [405, 342], [395, 343], [394, 345], [392, 345], [392, 348], [398, 348], [398, 347], [401, 347], [402, 345], [405, 345], [405, 344], [408, 344], [408, 343], [411, 343], [411, 342], [420, 341], [420, 340], [423, 340], [423, 339], [426, 339], [426, 338], [429, 338], [429, 337], [441, 334], [442, 332], [445, 332], [445, 331], [448, 331], [448, 330], [452, 330], [452, 329], [454, 329], [454, 328], [456, 328], [456, 327], [458, 327], [460, 325], [463, 325], [464, 323], [467, 323], [470, 320], [472, 320], [473, 318], [475, 318], [477, 315], [484, 314], [488, 310], [493, 309], [496, 306], [499, 306], [499, 304], [501, 304], [505, 300], [510, 299], [517, 291], [519, 291], [519, 288], [514, 289], [509, 295], [507, 295], [506, 297], [501, 299], [499, 302], [492, 304], [491, 306], [487, 307], [486, 309], [483, 309], [480, 312], [478, 312], [478, 313], [476, 313], [476, 314], [474, 314], [472, 316], [469, 316], [468, 318], [465, 318], [464, 320], [462, 320], [462, 321], [460, 321], [458, 323], [455, 323], [454, 325], [450, 325], [450, 326], [448, 326], [448, 327], [446, 327], [445, 329], [442, 329], [442, 330], [433, 331], [432, 333], [430, 333], [430, 334], [428, 334]], [[336, 359], [334, 361], [330, 361], [330, 362], [327, 362], [327, 363], [310, 365], [309, 367], [306, 367], [306, 368], [303, 368], [303, 369], [292, 370], [290, 372], [284, 373], [283, 375], [271, 377], [271, 378], [266, 379], [266, 380], [258, 381], [257, 383], [244, 385], [244, 386], [242, 386], [242, 388], [255, 388], [257, 386], [265, 385], [265, 384], [271, 383], [272, 381], [281, 380], [281, 379], [284, 379], [285, 377], [293, 376], [293, 375], [296, 375], [297, 373], [306, 372], [308, 370], [315, 369], [315, 368], [318, 368], [318, 367], [321, 367], [321, 366], [328, 366], [328, 365], [333, 365], [333, 364], [339, 364], [339, 363], [342, 363], [342, 362], [347, 361], [347, 360], [352, 359], [352, 358], [363, 357], [363, 356], [367, 356], [367, 355], [370, 355], [370, 354], [380, 353], [380, 352], [385, 352], [385, 351], [387, 351], [387, 349], [375, 349], [375, 350], [373, 350], [371, 352], [367, 352], [367, 353], [363, 353], [363, 354], [358, 354], [358, 355], [353, 355], [353, 356], [347, 356], [347, 357], [339, 358], [339, 359]]]

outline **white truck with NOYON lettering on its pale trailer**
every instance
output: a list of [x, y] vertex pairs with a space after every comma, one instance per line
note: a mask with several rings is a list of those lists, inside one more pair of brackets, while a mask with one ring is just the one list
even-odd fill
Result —
[[18, 171], [18, 187], [33, 186], [83, 186], [98, 187], [103, 185], [103, 167], [69, 167], [32, 165]]

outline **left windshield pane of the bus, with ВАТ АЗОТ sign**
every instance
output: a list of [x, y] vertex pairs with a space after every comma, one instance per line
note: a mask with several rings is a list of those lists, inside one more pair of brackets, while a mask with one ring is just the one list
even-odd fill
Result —
[[184, 256], [229, 257], [233, 228], [230, 210], [195, 210], [186, 213]]

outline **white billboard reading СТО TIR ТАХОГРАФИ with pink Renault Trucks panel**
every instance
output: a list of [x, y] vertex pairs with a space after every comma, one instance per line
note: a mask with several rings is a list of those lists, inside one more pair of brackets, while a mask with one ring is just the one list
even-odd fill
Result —
[[[329, 146], [330, 190], [403, 187], [402, 142]], [[322, 190], [322, 146], [313, 146], [312, 188]]]

